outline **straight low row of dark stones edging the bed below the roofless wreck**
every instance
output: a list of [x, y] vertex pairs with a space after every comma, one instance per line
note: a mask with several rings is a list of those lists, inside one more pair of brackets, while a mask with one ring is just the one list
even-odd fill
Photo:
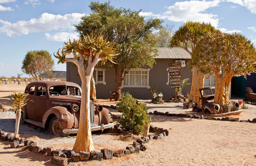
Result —
[[191, 115], [191, 114], [171, 114], [169, 112], [158, 112], [158, 111], [154, 111], [149, 112], [148, 114], [154, 114], [154, 115], [164, 115], [167, 117], [187, 117], [187, 118], [195, 118], [195, 119], [209, 119], [209, 120], [226, 120], [226, 121], [235, 121], [235, 122], [253, 122], [256, 123], [256, 118], [254, 119], [248, 119], [248, 120], [244, 120], [244, 119], [239, 119], [238, 117], [234, 118], [234, 117], [222, 117], [222, 118], [216, 118], [216, 117], [204, 117], [203, 115], [201, 116], [197, 116], [197, 115]]

